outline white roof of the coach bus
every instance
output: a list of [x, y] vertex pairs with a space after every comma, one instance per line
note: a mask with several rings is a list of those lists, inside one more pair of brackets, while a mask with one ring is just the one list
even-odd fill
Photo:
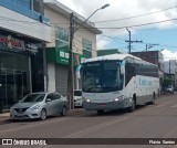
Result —
[[94, 62], [94, 61], [106, 61], [106, 60], [121, 60], [121, 61], [123, 61], [126, 57], [134, 57], [136, 60], [142, 60], [137, 56], [134, 56], [134, 55], [131, 55], [131, 54], [127, 54], [127, 53], [115, 53], [115, 54], [108, 54], [108, 55], [86, 59], [83, 63]]

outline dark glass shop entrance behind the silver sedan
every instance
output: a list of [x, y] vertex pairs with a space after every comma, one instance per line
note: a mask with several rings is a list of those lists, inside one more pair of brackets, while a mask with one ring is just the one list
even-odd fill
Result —
[[0, 53], [0, 99], [4, 112], [30, 92], [29, 57]]

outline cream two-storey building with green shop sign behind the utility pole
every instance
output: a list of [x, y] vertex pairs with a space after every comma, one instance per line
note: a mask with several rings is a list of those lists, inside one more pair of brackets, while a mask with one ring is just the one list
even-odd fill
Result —
[[[73, 12], [67, 7], [55, 0], [44, 0], [44, 14], [50, 18], [52, 24], [52, 43], [46, 46], [48, 62], [48, 91], [66, 95], [69, 70], [69, 34], [70, 14]], [[80, 14], [74, 13], [74, 25], [77, 31], [73, 39], [73, 65], [74, 72], [84, 59], [96, 56], [96, 34], [102, 33], [94, 23], [86, 21]], [[74, 88], [79, 88], [79, 80], [74, 73]]]

